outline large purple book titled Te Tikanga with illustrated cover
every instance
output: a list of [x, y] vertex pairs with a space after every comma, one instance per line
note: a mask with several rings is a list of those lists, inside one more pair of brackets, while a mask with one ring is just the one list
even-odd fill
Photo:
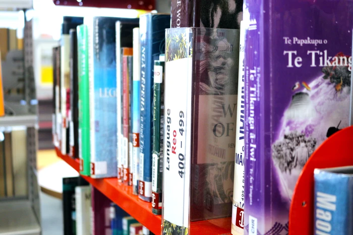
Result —
[[245, 234], [288, 233], [303, 166], [348, 126], [352, 9], [340, 0], [245, 2]]

